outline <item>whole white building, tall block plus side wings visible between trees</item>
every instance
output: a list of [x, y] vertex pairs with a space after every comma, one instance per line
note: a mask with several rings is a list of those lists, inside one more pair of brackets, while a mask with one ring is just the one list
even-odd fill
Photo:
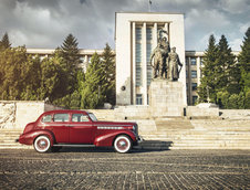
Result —
[[[198, 98], [202, 59], [205, 53], [185, 51], [184, 14], [168, 13], [129, 13], [115, 14], [116, 60], [116, 104], [148, 105], [148, 88], [153, 77], [150, 54], [157, 45], [158, 31], [164, 34], [170, 48], [176, 48], [183, 68], [179, 82], [183, 84], [184, 105], [194, 105]], [[51, 56], [53, 49], [27, 49], [28, 54]], [[103, 50], [81, 49], [83, 71], [86, 72], [94, 53], [101, 55]], [[238, 55], [239, 52], [233, 52]]]

